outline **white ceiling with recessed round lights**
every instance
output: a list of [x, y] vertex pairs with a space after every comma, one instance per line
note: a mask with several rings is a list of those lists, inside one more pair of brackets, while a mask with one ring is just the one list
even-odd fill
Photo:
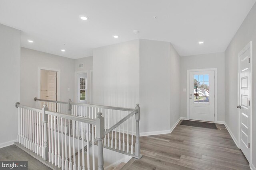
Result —
[[187, 56], [225, 51], [255, 1], [0, 0], [0, 23], [22, 31], [22, 47], [72, 59], [138, 38], [171, 42]]

